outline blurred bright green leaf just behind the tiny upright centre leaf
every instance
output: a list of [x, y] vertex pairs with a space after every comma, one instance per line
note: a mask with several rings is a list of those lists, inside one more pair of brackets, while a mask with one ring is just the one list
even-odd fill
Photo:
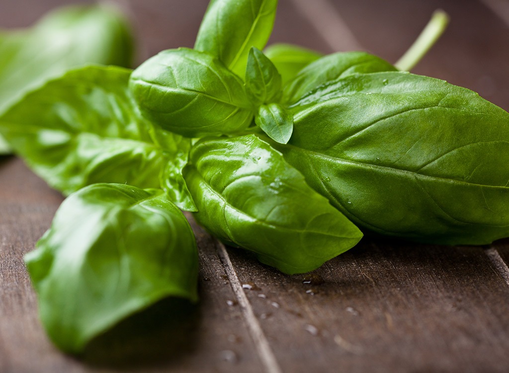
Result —
[[292, 44], [272, 44], [264, 50], [265, 56], [281, 74], [282, 84], [293, 79], [297, 73], [322, 55], [314, 50]]

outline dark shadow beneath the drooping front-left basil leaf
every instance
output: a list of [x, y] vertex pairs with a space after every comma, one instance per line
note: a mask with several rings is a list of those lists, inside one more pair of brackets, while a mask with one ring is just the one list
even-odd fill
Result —
[[130, 371], [175, 364], [195, 350], [200, 314], [199, 305], [164, 299], [94, 338], [79, 358], [91, 366]]

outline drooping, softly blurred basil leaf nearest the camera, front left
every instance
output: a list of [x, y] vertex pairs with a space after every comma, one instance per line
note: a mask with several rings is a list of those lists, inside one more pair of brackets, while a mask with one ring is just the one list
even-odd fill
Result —
[[41, 321], [65, 352], [163, 298], [197, 300], [196, 242], [162, 191], [94, 184], [72, 194], [25, 262]]

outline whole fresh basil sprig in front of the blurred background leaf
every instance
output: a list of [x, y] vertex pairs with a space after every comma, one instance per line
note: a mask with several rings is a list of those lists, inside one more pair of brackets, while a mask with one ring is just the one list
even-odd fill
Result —
[[[41, 320], [78, 353], [136, 310], [196, 301], [182, 210], [288, 274], [362, 232], [509, 236], [509, 114], [365, 52], [266, 49], [276, 0], [212, 0], [193, 49], [90, 65], [32, 89], [0, 133], [69, 197], [25, 256]], [[425, 48], [421, 48], [421, 51]], [[264, 51], [262, 51], [264, 50]]]

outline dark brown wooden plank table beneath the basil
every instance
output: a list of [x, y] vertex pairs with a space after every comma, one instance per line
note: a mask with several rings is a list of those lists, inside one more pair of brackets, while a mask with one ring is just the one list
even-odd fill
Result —
[[[64, 0], [2, 0], [0, 26]], [[125, 0], [140, 57], [192, 46], [207, 0]], [[451, 24], [414, 69], [509, 109], [506, 0], [280, 0], [272, 42], [363, 49], [396, 61], [436, 8]], [[22, 255], [62, 201], [0, 158], [0, 372], [507, 372], [509, 241], [441, 247], [363, 239], [308, 275], [286, 276], [199, 227], [201, 302], [163, 301], [81, 358], [52, 347]], [[250, 286], [243, 286], [250, 285]], [[250, 289], [248, 287], [251, 287]]]

